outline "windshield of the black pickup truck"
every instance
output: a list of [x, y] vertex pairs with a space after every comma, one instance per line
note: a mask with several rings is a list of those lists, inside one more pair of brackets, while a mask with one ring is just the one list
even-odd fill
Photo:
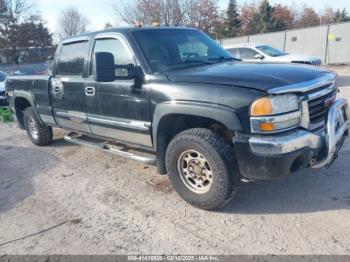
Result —
[[234, 60], [219, 44], [194, 29], [132, 32], [153, 72], [166, 72]]

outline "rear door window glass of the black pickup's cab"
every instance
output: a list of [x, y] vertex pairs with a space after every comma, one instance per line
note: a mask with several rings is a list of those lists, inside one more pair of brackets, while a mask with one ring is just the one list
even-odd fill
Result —
[[57, 75], [82, 76], [89, 42], [76, 42], [62, 46], [58, 58]]

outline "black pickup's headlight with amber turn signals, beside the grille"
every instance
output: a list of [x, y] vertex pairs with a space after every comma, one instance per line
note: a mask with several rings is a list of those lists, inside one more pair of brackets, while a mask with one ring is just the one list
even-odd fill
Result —
[[273, 133], [300, 125], [301, 111], [296, 95], [263, 97], [250, 108], [253, 133]]

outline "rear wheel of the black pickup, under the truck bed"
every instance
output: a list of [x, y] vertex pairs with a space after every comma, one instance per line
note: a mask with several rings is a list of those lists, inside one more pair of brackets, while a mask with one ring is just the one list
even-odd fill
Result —
[[35, 145], [46, 146], [52, 142], [52, 128], [40, 123], [33, 108], [24, 110], [23, 121], [27, 134]]

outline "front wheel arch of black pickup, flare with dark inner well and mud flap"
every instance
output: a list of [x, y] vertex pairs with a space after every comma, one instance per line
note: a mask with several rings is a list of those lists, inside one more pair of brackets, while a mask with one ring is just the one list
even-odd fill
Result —
[[[209, 103], [166, 102], [159, 104], [152, 123], [152, 139], [157, 152], [157, 167], [166, 174], [165, 152], [171, 139], [190, 128], [218, 128], [232, 138], [242, 124], [234, 110]], [[229, 133], [229, 134], [227, 134]]]

